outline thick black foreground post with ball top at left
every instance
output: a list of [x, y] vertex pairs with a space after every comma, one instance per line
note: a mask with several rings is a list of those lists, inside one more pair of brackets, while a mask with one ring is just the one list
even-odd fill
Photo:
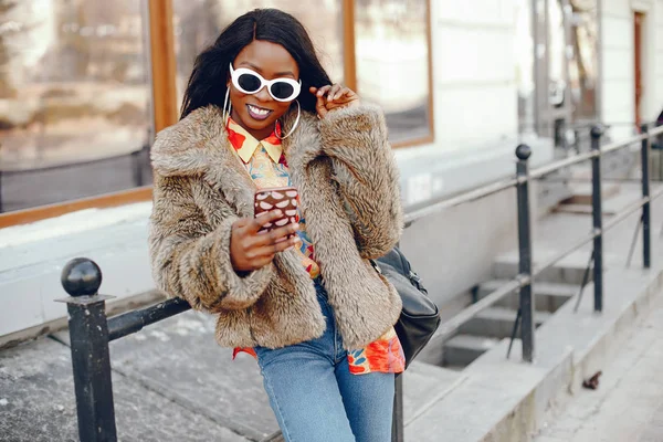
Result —
[[102, 272], [91, 260], [72, 260], [62, 271], [62, 286], [70, 297], [59, 301], [69, 309], [81, 442], [117, 441], [105, 303], [113, 296], [99, 296], [101, 285]]

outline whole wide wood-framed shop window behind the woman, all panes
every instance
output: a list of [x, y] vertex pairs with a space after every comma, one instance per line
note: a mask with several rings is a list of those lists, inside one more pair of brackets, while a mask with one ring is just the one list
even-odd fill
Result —
[[155, 127], [177, 122], [196, 55], [255, 8], [298, 18], [394, 146], [432, 141], [430, 0], [312, 3], [0, 0], [0, 225], [148, 199], [134, 188], [151, 181]]

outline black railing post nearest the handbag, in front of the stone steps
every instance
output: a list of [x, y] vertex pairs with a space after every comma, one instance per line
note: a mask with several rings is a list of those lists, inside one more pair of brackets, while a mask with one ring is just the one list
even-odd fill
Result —
[[528, 277], [527, 284], [520, 287], [520, 339], [523, 340], [523, 359], [534, 360], [534, 302], [532, 298], [532, 224], [529, 221], [529, 170], [527, 159], [532, 149], [527, 145], [516, 148], [516, 192], [518, 199], [518, 272]]

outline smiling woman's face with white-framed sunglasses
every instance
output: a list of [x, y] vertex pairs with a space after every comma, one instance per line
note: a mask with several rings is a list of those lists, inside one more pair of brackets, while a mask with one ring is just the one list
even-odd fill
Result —
[[[299, 80], [299, 67], [295, 59], [280, 44], [254, 40], [240, 52], [233, 62], [233, 69], [250, 69], [265, 80], [293, 78]], [[246, 131], [263, 139], [274, 129], [274, 123], [288, 109], [293, 102], [277, 102], [270, 95], [267, 87], [255, 94], [244, 94], [238, 91], [232, 82], [230, 101], [232, 118]]]

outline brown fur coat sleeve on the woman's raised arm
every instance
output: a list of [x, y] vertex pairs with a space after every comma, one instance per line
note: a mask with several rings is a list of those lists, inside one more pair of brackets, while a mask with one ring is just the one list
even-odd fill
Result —
[[359, 253], [365, 259], [382, 256], [399, 241], [403, 225], [385, 116], [378, 107], [362, 104], [330, 112], [319, 128]]

